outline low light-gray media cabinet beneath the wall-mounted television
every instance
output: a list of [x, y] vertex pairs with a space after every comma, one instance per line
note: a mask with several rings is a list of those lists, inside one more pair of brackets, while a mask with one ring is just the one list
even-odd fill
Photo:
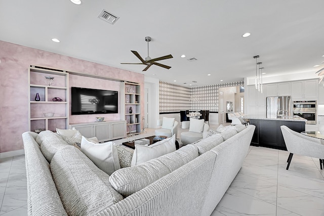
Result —
[[126, 137], [126, 120], [70, 124], [86, 138], [97, 137], [99, 142]]

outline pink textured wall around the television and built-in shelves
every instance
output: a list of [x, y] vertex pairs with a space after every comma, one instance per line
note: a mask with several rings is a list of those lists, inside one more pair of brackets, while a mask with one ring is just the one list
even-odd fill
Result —
[[[23, 149], [21, 134], [28, 131], [27, 72], [30, 65], [139, 82], [142, 86], [141, 95], [144, 96], [143, 74], [0, 40], [0, 153]], [[70, 87], [108, 89], [119, 92], [119, 84], [115, 81], [69, 75]], [[140, 103], [142, 104], [142, 116], [144, 116], [144, 97], [141, 97]], [[105, 117], [105, 120], [120, 119], [119, 113], [100, 116]], [[70, 123], [95, 121], [95, 117], [95, 115], [70, 115]]]

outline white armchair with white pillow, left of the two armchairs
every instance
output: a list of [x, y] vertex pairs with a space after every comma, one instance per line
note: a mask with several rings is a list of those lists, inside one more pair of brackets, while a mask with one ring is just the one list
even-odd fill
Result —
[[178, 134], [178, 121], [175, 118], [163, 117], [163, 119], [157, 120], [157, 125], [161, 126], [159, 129], [155, 129], [155, 136], [172, 137], [174, 134]]

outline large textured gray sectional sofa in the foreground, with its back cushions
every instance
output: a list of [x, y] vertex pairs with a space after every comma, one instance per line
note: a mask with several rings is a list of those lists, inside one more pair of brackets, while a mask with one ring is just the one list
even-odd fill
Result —
[[110, 176], [57, 134], [26, 132], [28, 215], [210, 215], [254, 129], [213, 135]]

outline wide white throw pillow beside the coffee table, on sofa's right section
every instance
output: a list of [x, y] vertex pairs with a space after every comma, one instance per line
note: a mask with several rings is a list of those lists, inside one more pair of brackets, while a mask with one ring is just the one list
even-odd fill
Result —
[[131, 166], [171, 153], [176, 150], [176, 135], [149, 146], [136, 145]]

